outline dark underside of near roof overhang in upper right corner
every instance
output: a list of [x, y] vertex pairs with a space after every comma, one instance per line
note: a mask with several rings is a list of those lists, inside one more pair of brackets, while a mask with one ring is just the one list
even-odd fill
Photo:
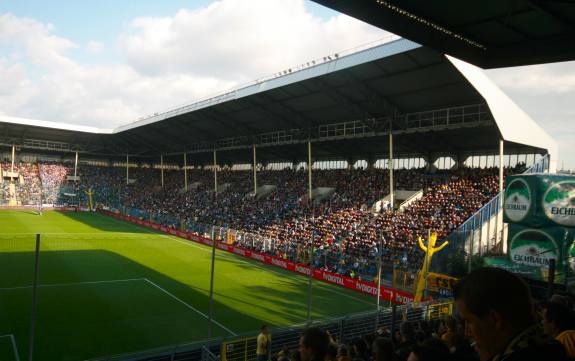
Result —
[[482, 68], [575, 60], [567, 0], [313, 0]]

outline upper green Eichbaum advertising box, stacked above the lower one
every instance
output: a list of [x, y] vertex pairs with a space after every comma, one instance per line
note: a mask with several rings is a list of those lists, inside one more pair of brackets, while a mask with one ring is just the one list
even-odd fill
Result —
[[530, 227], [575, 227], [575, 177], [557, 174], [507, 177], [503, 220]]

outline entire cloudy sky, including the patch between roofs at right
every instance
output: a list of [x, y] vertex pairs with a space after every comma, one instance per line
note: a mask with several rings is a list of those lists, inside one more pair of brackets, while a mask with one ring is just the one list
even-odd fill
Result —
[[[2, 0], [0, 115], [113, 127], [386, 35], [307, 0]], [[575, 169], [575, 62], [487, 74]]]

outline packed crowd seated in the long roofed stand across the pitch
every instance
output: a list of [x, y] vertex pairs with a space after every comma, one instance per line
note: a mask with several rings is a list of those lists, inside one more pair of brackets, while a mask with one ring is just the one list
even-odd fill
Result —
[[309, 202], [303, 169], [258, 171], [258, 184], [271, 188], [254, 195], [251, 171], [222, 169], [214, 192], [210, 170], [188, 170], [185, 190], [182, 170], [165, 170], [162, 186], [160, 171], [152, 168], [130, 168], [127, 181], [123, 167], [81, 165], [79, 181], [71, 182], [71, 164], [21, 167], [30, 189], [43, 189], [44, 203], [87, 206], [91, 193], [94, 206], [123, 206], [198, 233], [226, 227], [239, 231], [235, 242], [253, 250], [304, 263], [311, 258], [326, 271], [364, 277], [375, 274], [378, 256], [385, 265], [416, 270], [423, 257], [418, 236], [432, 230], [446, 237], [498, 190], [496, 168], [401, 169], [394, 172], [395, 189], [422, 190], [423, 196], [402, 211], [376, 212], [375, 202], [389, 193], [382, 169], [314, 170], [313, 187], [331, 191]]

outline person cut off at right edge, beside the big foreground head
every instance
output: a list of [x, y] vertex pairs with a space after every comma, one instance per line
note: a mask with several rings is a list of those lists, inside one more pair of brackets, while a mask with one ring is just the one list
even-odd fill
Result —
[[565, 304], [549, 302], [543, 308], [543, 330], [561, 342], [567, 356], [575, 358], [575, 315]]

